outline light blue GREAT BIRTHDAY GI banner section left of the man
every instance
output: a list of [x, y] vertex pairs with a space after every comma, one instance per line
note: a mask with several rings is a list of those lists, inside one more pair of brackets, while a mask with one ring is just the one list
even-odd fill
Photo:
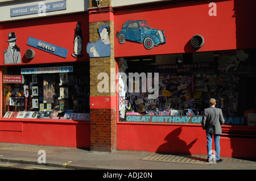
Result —
[[202, 116], [127, 115], [126, 122], [201, 124]]

